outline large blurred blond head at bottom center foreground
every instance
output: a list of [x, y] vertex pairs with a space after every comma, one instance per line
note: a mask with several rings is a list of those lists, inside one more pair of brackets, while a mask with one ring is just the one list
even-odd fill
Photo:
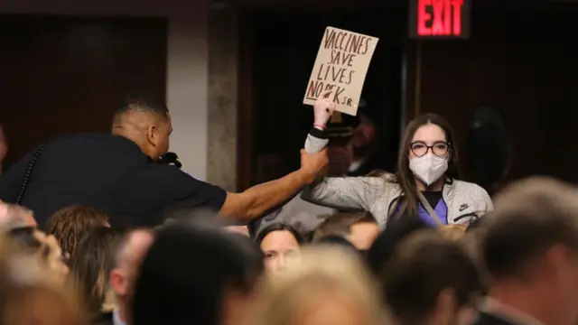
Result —
[[354, 253], [308, 246], [285, 272], [264, 279], [256, 325], [383, 325], [376, 283]]

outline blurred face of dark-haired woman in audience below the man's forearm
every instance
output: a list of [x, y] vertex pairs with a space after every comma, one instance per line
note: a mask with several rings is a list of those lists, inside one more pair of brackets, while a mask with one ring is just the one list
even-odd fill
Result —
[[290, 231], [272, 231], [263, 238], [261, 250], [267, 271], [282, 271], [291, 259], [299, 256], [299, 243]]

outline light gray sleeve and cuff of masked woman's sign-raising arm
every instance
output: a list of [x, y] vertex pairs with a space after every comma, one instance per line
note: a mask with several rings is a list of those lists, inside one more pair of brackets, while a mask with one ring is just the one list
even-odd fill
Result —
[[[314, 129], [307, 135], [305, 151], [318, 153], [328, 142], [326, 135]], [[335, 209], [371, 210], [385, 185], [383, 177], [325, 177], [306, 187], [301, 197]]]

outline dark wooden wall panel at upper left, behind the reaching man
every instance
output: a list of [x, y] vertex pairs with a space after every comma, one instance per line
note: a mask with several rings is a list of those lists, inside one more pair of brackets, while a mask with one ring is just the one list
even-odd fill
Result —
[[165, 99], [164, 19], [0, 15], [0, 39], [7, 164], [55, 135], [109, 132], [130, 91]]

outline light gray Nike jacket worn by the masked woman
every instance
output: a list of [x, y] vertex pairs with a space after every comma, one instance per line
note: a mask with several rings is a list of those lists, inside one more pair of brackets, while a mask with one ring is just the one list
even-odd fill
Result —
[[[305, 150], [317, 153], [329, 141], [307, 135]], [[302, 192], [303, 200], [335, 209], [368, 210], [378, 220], [381, 228], [396, 210], [402, 190], [393, 175], [380, 177], [326, 177]], [[471, 222], [493, 209], [486, 190], [467, 181], [452, 181], [443, 187], [443, 200], [448, 207], [448, 223]]]

